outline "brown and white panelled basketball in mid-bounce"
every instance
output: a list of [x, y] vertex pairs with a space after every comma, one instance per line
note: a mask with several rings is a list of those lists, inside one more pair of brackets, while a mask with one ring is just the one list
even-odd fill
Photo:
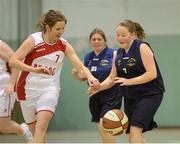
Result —
[[123, 111], [112, 109], [104, 115], [102, 125], [111, 135], [120, 135], [128, 127], [128, 118]]

